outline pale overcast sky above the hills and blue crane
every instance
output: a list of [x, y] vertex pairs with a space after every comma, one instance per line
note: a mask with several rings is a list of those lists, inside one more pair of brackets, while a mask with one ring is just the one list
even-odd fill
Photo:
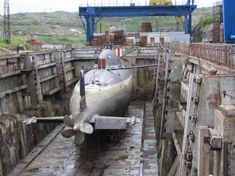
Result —
[[[186, 0], [172, 0], [173, 3], [182, 4]], [[195, 0], [198, 7], [211, 6], [218, 0]], [[70, 11], [77, 12], [79, 5], [127, 5], [130, 2], [144, 5], [148, 0], [10, 0], [11, 13], [19, 12], [52, 12], [52, 11]], [[3, 14], [3, 0], [0, 2], [0, 12]]]

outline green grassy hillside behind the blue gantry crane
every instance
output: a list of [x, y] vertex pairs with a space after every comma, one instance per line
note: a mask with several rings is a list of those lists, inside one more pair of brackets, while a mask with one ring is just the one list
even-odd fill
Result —
[[[211, 11], [211, 8], [197, 9], [193, 14], [193, 25], [195, 26], [203, 16], [210, 15]], [[101, 28], [104, 32], [115, 26], [128, 32], [136, 32], [140, 30], [142, 22], [151, 22], [153, 31], [176, 28], [174, 17], [104, 18], [97, 24], [97, 31], [100, 32]], [[85, 31], [78, 13], [75, 12], [19, 13], [11, 15], [11, 24], [13, 45], [22, 45], [30, 39], [53, 44], [85, 43]], [[183, 29], [183, 24], [181, 28]], [[2, 31], [2, 26], [0, 30]], [[4, 46], [1, 41], [0, 39], [0, 46]]]

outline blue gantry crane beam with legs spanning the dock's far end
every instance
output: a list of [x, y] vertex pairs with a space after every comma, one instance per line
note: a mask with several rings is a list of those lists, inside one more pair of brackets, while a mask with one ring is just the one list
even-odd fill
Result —
[[80, 7], [79, 15], [86, 19], [87, 42], [93, 39], [95, 18], [102, 17], [184, 16], [185, 32], [191, 34], [191, 14], [196, 5], [188, 2], [186, 5]]

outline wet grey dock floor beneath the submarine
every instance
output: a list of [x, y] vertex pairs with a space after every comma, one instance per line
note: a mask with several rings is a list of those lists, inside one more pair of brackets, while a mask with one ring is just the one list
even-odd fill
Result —
[[[60, 134], [19, 175], [21, 176], [137, 176], [158, 175], [151, 103], [133, 102], [128, 116], [141, 120], [121, 133], [119, 142], [79, 148], [74, 138]], [[143, 122], [143, 123], [142, 123]], [[143, 138], [142, 138], [143, 137]], [[90, 139], [92, 140], [92, 138]]]

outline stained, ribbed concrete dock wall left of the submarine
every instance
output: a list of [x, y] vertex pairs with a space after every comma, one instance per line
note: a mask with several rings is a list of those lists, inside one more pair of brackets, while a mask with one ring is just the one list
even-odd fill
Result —
[[68, 114], [81, 69], [94, 65], [100, 50], [72, 49], [0, 58], [0, 176], [5, 176], [56, 124], [23, 121]]

